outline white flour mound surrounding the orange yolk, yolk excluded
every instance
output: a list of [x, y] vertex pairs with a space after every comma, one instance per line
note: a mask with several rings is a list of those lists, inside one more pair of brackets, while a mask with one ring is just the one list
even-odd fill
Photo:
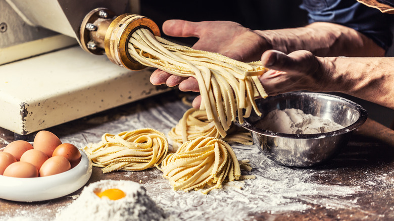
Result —
[[[95, 192], [120, 189], [126, 196], [118, 200], [102, 199]], [[162, 220], [163, 212], [146, 190], [132, 181], [102, 180], [85, 187], [81, 195], [56, 215], [56, 221], [88, 220]]]

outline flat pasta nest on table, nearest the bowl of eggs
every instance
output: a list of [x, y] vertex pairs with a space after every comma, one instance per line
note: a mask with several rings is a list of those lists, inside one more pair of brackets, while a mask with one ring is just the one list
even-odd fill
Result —
[[103, 173], [141, 171], [155, 167], [164, 159], [168, 141], [162, 132], [145, 128], [116, 135], [106, 133], [101, 142], [89, 143], [83, 150], [93, 166], [103, 168]]

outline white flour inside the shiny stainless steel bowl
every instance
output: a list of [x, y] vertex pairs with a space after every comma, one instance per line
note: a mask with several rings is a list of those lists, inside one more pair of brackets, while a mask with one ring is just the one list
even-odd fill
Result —
[[284, 134], [320, 134], [342, 129], [343, 126], [301, 109], [275, 109], [259, 122], [259, 128]]

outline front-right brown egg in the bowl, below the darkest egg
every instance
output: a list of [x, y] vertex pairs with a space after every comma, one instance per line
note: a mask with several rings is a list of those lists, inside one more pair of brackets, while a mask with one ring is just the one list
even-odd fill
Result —
[[53, 156], [47, 159], [40, 169], [40, 177], [60, 174], [71, 169], [70, 161], [64, 156]]

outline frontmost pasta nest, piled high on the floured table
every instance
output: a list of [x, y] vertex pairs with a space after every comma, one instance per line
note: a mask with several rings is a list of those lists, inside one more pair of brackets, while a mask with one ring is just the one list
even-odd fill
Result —
[[238, 161], [231, 147], [221, 139], [199, 137], [182, 144], [175, 153], [169, 153], [162, 161], [163, 177], [170, 181], [174, 190], [199, 190], [207, 194], [221, 188], [225, 181], [254, 179], [241, 176], [242, 168], [251, 171], [247, 160]]

